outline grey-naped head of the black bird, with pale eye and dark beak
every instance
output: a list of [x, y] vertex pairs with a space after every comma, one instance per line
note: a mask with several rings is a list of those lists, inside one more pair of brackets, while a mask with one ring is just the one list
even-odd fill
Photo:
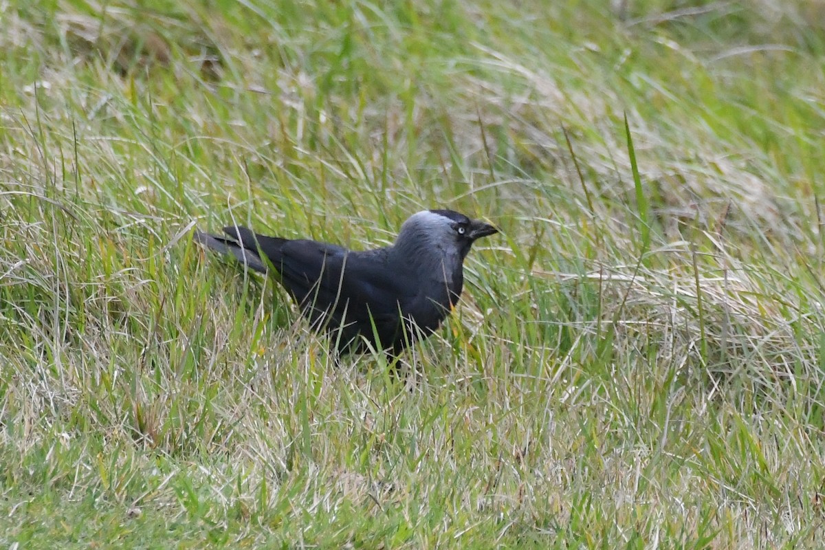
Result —
[[498, 229], [489, 223], [469, 219], [453, 210], [422, 210], [403, 223], [395, 246], [440, 250], [464, 260], [474, 242], [493, 233], [498, 233]]

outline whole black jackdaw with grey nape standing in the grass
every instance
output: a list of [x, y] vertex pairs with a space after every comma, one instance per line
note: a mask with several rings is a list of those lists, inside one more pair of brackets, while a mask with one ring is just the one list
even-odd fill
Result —
[[387, 247], [350, 250], [328, 242], [267, 237], [233, 225], [193, 240], [274, 275], [310, 327], [338, 355], [383, 350], [398, 356], [441, 326], [459, 302], [464, 258], [493, 225], [448, 209], [422, 210]]

